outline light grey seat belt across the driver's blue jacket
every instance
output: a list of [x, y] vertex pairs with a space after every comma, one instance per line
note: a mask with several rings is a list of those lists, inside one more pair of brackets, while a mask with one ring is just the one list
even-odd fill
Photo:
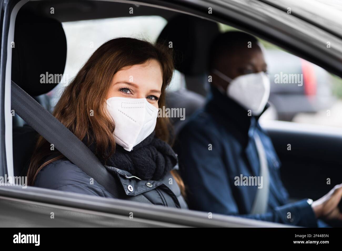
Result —
[[251, 214], [261, 214], [261, 213], [266, 213], [267, 211], [268, 194], [269, 194], [269, 170], [268, 170], [265, 149], [256, 131], [254, 131], [254, 140], [255, 140], [255, 145], [257, 146], [259, 163], [260, 163], [259, 176], [263, 178], [262, 178], [262, 188], [258, 188], [257, 193], [255, 194]]

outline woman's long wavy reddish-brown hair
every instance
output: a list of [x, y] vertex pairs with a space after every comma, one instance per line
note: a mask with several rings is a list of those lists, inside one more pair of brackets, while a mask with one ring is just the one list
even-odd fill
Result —
[[[91, 55], [65, 88], [52, 114], [80, 140], [85, 136], [95, 140], [97, 157], [106, 160], [115, 151], [115, 125], [105, 111], [110, 82], [119, 70], [143, 64], [150, 59], [156, 59], [161, 65], [163, 83], [158, 104], [159, 107], [165, 106], [165, 88], [174, 70], [171, 49], [143, 40], [116, 38], [101, 45]], [[90, 110], [96, 116], [90, 116]], [[157, 118], [155, 131], [158, 138], [170, 143], [170, 128], [167, 117]], [[59, 153], [58, 156], [50, 159], [49, 156], [55, 153]], [[50, 143], [39, 136], [27, 173], [28, 185], [34, 185], [38, 172], [44, 166], [62, 157], [57, 150], [50, 150]], [[173, 170], [172, 175], [185, 195], [184, 183], [179, 174]]]

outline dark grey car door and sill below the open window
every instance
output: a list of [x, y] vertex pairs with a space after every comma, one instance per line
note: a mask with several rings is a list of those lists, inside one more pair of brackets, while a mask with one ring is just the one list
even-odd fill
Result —
[[292, 227], [30, 186], [0, 188], [0, 218], [1, 227]]

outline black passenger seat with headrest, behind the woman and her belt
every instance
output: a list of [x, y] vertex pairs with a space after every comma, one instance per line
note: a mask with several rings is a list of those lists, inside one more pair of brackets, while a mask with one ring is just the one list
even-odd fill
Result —
[[[52, 90], [58, 83], [41, 83], [41, 74], [63, 74], [66, 37], [62, 24], [24, 9], [15, 21], [12, 81], [31, 96]], [[15, 112], [15, 111], [14, 111]], [[38, 134], [29, 126], [13, 125], [14, 175], [25, 174]]]

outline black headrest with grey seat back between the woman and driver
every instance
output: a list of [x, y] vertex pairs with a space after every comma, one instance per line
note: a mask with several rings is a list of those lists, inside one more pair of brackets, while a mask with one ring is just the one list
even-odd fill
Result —
[[[166, 46], [172, 42], [175, 69], [185, 76], [186, 88], [168, 92], [166, 96], [169, 108], [185, 108], [185, 117], [189, 117], [205, 103], [208, 53], [210, 43], [218, 33], [216, 23], [182, 14], [168, 22], [157, 40]], [[171, 118], [175, 134], [185, 121]]]

